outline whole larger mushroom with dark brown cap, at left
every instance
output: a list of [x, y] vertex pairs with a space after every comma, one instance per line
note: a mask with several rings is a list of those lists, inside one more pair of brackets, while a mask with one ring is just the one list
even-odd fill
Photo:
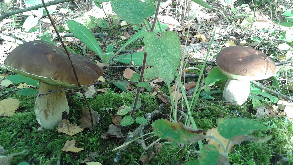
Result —
[[[94, 83], [104, 70], [88, 58], [71, 53], [81, 85]], [[40, 81], [39, 94], [48, 90], [78, 87], [67, 54], [46, 41], [24, 43], [7, 56], [4, 65], [15, 73]], [[65, 91], [37, 97], [35, 115], [38, 123], [52, 129], [62, 120], [62, 112], [69, 113]]]

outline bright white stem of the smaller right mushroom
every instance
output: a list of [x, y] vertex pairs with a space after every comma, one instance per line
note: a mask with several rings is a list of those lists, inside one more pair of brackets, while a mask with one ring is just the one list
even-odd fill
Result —
[[223, 92], [226, 102], [234, 105], [242, 105], [250, 93], [249, 80], [235, 80], [229, 78]]

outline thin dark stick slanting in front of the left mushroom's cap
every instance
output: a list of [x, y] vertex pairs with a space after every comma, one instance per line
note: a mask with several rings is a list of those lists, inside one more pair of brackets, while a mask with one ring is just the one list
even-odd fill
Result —
[[70, 61], [70, 64], [71, 64], [71, 67], [72, 67], [72, 70], [73, 70], [73, 73], [74, 73], [74, 76], [75, 76], [76, 82], [77, 82], [77, 84], [78, 84], [79, 90], [81, 91], [82, 95], [84, 96], [84, 100], [86, 101], [86, 105], [88, 106], [88, 111], [89, 111], [89, 113], [90, 113], [90, 117], [91, 117], [91, 124], [92, 124], [92, 126], [94, 127], [94, 125], [93, 125], [93, 116], [92, 116], [92, 113], [91, 113], [91, 107], [90, 107], [90, 105], [89, 105], [89, 103], [88, 103], [88, 100], [87, 100], [87, 98], [86, 98], [86, 95], [84, 94], [84, 90], [81, 88], [81, 85], [80, 85], [80, 83], [79, 83], [79, 80], [78, 80], [78, 77], [77, 77], [77, 74], [76, 74], [76, 70], [75, 70], [75, 68], [74, 68], [75, 63], [73, 63], [72, 60], [71, 60], [71, 58], [70, 58], [69, 52], [68, 52], [68, 50], [67, 50], [67, 48], [66, 48], [66, 46], [65, 46], [65, 44], [64, 44], [64, 42], [63, 42], [63, 40], [62, 40], [62, 38], [61, 38], [61, 36], [59, 35], [59, 32], [58, 32], [58, 30], [57, 30], [57, 28], [56, 28], [56, 26], [55, 26], [55, 24], [54, 24], [52, 18], [50, 17], [49, 11], [48, 11], [48, 9], [47, 9], [47, 6], [46, 6], [44, 0], [42, 0], [42, 4], [43, 4], [43, 6], [44, 6], [44, 8], [45, 8], [45, 11], [46, 11], [46, 13], [47, 13], [47, 16], [48, 16], [49, 19], [50, 19], [50, 22], [52, 23], [52, 26], [53, 26], [55, 32], [57, 33], [57, 36], [58, 36], [60, 42], [62, 43], [62, 46], [63, 46], [63, 48], [64, 48], [64, 50], [65, 50], [65, 52], [66, 52], [66, 54], [67, 54], [67, 56], [68, 56], [68, 59], [69, 59], [69, 61]]

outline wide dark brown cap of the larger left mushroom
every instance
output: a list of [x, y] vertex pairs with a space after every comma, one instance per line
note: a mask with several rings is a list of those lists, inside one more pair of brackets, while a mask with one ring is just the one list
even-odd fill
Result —
[[[70, 53], [81, 85], [94, 83], [104, 70], [90, 59]], [[68, 56], [61, 48], [46, 41], [30, 41], [16, 47], [4, 65], [15, 73], [57, 87], [76, 87], [77, 82]]]

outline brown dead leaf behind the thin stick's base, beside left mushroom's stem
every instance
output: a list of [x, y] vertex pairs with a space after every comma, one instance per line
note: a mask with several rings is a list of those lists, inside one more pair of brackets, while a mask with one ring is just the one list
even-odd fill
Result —
[[[78, 120], [80, 122], [79, 127], [90, 128], [91, 127], [91, 117], [88, 108], [81, 107], [82, 117]], [[93, 124], [97, 124], [100, 120], [100, 115], [98, 112], [91, 110], [93, 115]]]

